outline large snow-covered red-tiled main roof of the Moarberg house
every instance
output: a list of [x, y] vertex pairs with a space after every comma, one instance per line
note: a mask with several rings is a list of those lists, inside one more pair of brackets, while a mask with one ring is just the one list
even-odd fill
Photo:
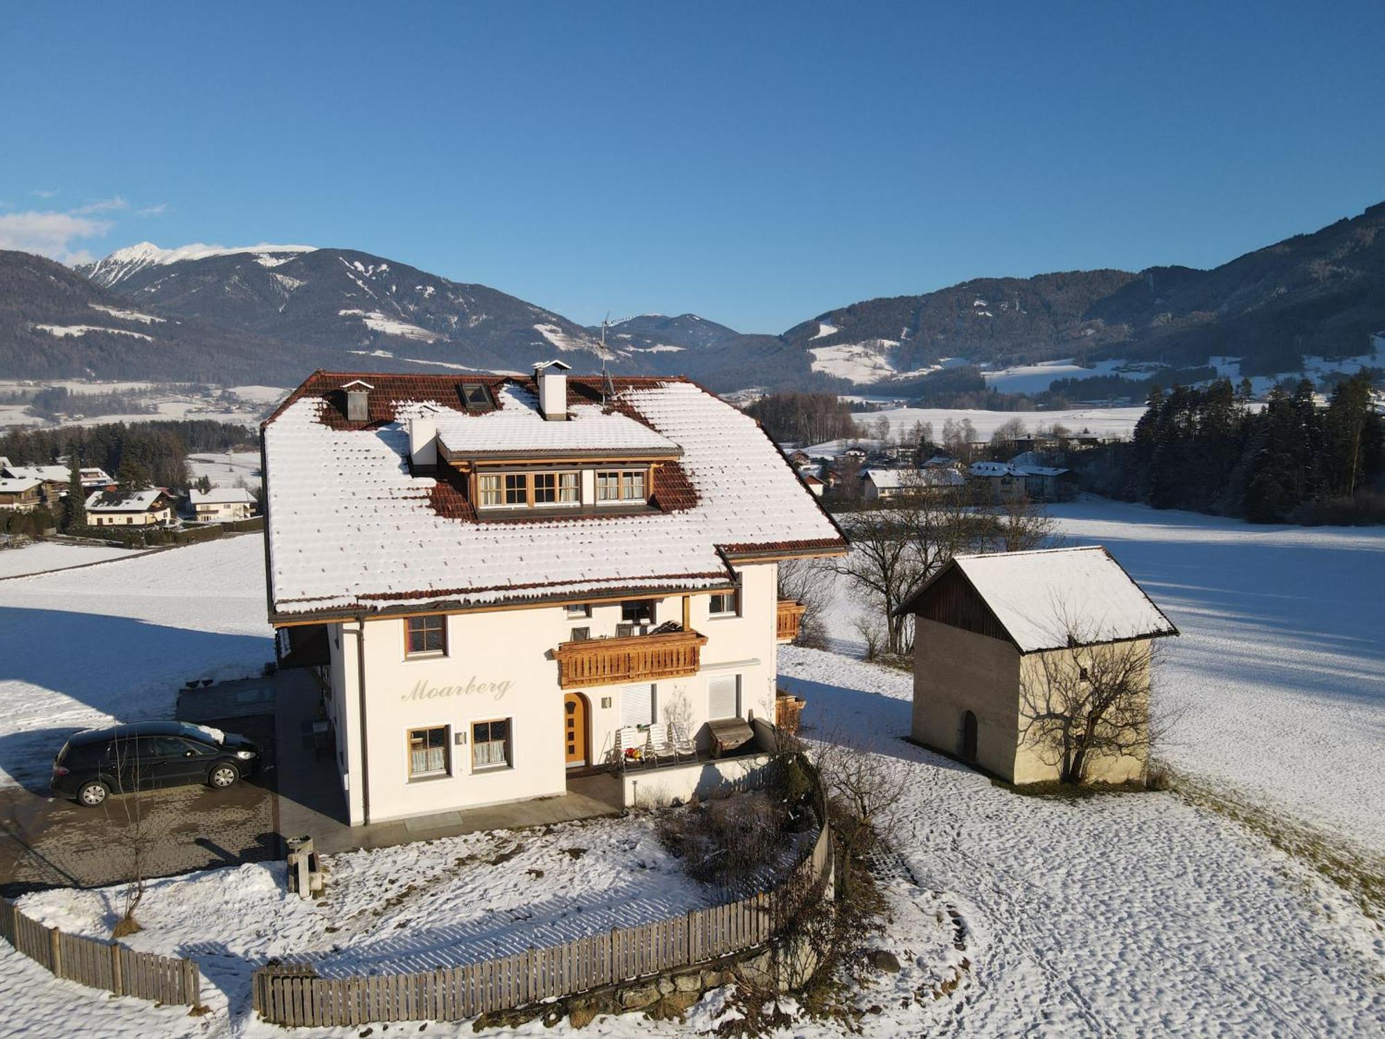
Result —
[[[729, 558], [845, 549], [759, 425], [691, 382], [616, 378], [602, 409], [600, 378], [568, 378], [576, 417], [548, 423], [530, 380], [373, 373], [370, 421], [350, 423], [352, 377], [316, 373], [263, 427], [276, 616], [720, 587]], [[497, 411], [468, 413], [478, 381]], [[410, 472], [407, 420], [429, 403], [449, 449], [680, 454], [655, 470], [654, 511], [481, 521], [449, 479]]]

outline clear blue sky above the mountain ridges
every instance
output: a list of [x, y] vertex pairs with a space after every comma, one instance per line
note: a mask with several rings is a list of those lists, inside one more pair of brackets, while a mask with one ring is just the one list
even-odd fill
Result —
[[1385, 4], [10, 4], [0, 245], [338, 245], [777, 332], [1385, 199]]

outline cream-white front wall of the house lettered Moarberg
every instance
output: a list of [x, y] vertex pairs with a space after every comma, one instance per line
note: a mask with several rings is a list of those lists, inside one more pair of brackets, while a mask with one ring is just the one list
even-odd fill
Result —
[[[686, 718], [690, 731], [706, 745], [708, 680], [740, 676], [740, 713], [774, 718], [777, 567], [758, 564], [741, 572], [737, 616], [709, 615], [709, 596], [688, 600], [691, 626], [708, 637], [697, 675], [655, 686], [656, 723]], [[683, 621], [683, 596], [655, 601], [654, 623]], [[589, 628], [593, 639], [616, 634], [619, 603], [593, 604], [590, 618], [569, 618], [565, 607], [452, 614], [446, 618], [443, 655], [404, 655], [404, 621], [370, 619], [366, 639], [366, 754], [368, 755], [370, 820], [384, 822], [460, 808], [551, 797], [566, 790], [564, 754], [564, 690], [553, 650]], [[331, 716], [345, 751], [348, 799], [353, 823], [364, 820], [361, 720], [356, 687], [356, 623], [332, 632]], [[605, 763], [620, 726], [622, 684], [575, 690], [589, 704], [589, 761]], [[471, 731], [475, 722], [508, 719], [511, 761], [504, 769], [474, 769]], [[449, 726], [446, 776], [409, 779], [410, 729]], [[463, 743], [457, 736], [464, 737]], [[341, 759], [339, 759], [341, 761]], [[684, 795], [686, 797], [686, 795]]]

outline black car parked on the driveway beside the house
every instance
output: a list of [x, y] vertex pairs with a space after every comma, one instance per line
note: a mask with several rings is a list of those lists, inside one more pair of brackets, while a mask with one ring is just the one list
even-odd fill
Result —
[[141, 722], [73, 736], [53, 759], [50, 787], [96, 808], [111, 794], [136, 790], [230, 787], [259, 765], [259, 747], [244, 736], [191, 722]]

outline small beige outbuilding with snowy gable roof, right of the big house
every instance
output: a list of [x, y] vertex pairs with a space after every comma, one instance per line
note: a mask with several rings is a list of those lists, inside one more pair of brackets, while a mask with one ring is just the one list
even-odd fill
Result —
[[[1060, 779], [1036, 697], [1126, 661], [1148, 718], [1151, 640], [1177, 634], [1105, 549], [958, 556], [899, 612], [914, 614], [913, 738], [1011, 783]], [[1100, 679], [1097, 679], [1100, 680]], [[1051, 707], [1051, 705], [1046, 705]], [[1089, 761], [1086, 777], [1143, 776], [1143, 749]]]

